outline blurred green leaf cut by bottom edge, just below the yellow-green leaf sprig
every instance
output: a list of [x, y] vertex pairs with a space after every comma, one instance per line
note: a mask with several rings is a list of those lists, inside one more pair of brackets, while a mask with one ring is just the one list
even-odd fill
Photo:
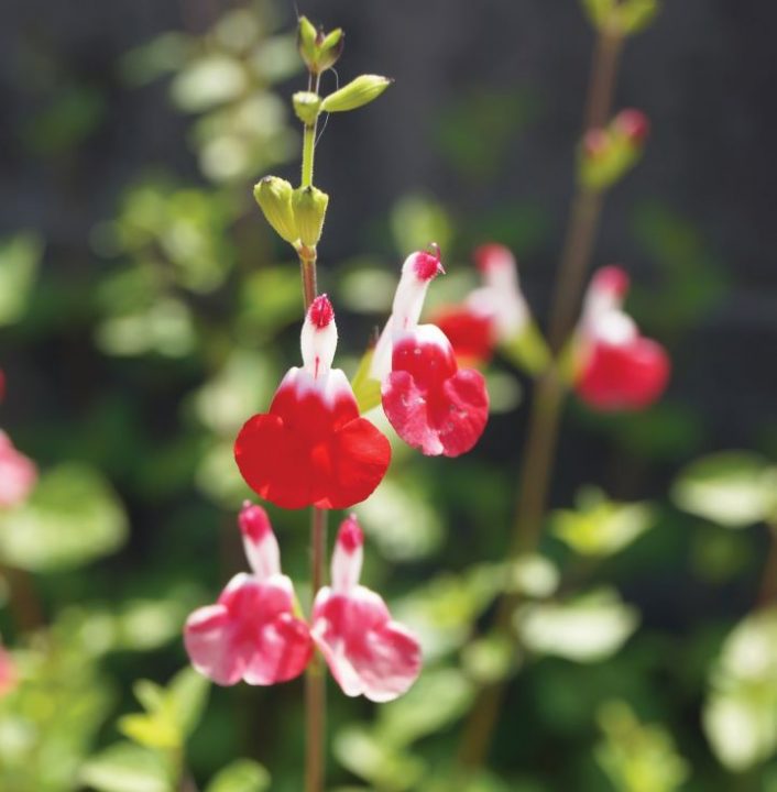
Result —
[[153, 751], [118, 743], [90, 759], [80, 782], [99, 792], [174, 792], [163, 761]]

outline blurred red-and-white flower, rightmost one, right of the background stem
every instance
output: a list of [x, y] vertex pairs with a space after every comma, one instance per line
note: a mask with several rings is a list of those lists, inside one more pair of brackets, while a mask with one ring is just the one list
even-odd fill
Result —
[[574, 389], [598, 410], [648, 407], [669, 380], [666, 350], [642, 336], [622, 310], [627, 288], [623, 270], [603, 267], [594, 275], [583, 305], [576, 341]]

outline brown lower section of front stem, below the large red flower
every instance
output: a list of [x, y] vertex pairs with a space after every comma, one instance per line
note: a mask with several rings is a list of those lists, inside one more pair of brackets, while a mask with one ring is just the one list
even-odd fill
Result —
[[[310, 588], [316, 593], [324, 585], [327, 550], [327, 512], [313, 508], [310, 519]], [[313, 607], [310, 608], [313, 612]], [[321, 656], [314, 654], [305, 675], [305, 791], [322, 792], [326, 741], [327, 688]]]

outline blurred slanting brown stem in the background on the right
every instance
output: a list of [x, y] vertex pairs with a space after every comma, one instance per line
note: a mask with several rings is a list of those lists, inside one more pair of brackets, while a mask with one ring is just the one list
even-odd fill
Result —
[[[610, 114], [622, 44], [623, 38], [611, 31], [599, 34], [583, 132], [603, 125]], [[555, 355], [558, 355], [574, 323], [599, 230], [602, 202], [601, 193], [584, 186], [578, 187], [572, 199], [550, 308], [548, 340]], [[511, 560], [534, 552], [541, 539], [565, 393], [558, 363], [554, 362], [538, 380], [532, 400], [518, 477], [518, 503], [508, 554]], [[494, 622], [496, 632], [512, 632], [512, 618], [519, 601], [518, 594], [504, 594], [500, 598]], [[482, 688], [478, 693], [459, 749], [459, 762], [470, 771], [481, 767], [488, 757], [506, 689], [507, 681], [502, 680]]]

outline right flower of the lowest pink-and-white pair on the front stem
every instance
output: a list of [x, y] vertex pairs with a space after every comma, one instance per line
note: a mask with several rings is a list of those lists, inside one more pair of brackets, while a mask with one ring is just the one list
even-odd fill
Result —
[[364, 536], [351, 516], [340, 526], [331, 586], [318, 592], [311, 635], [346, 695], [374, 702], [401, 696], [420, 673], [415, 636], [394, 622], [385, 602], [359, 585]]

